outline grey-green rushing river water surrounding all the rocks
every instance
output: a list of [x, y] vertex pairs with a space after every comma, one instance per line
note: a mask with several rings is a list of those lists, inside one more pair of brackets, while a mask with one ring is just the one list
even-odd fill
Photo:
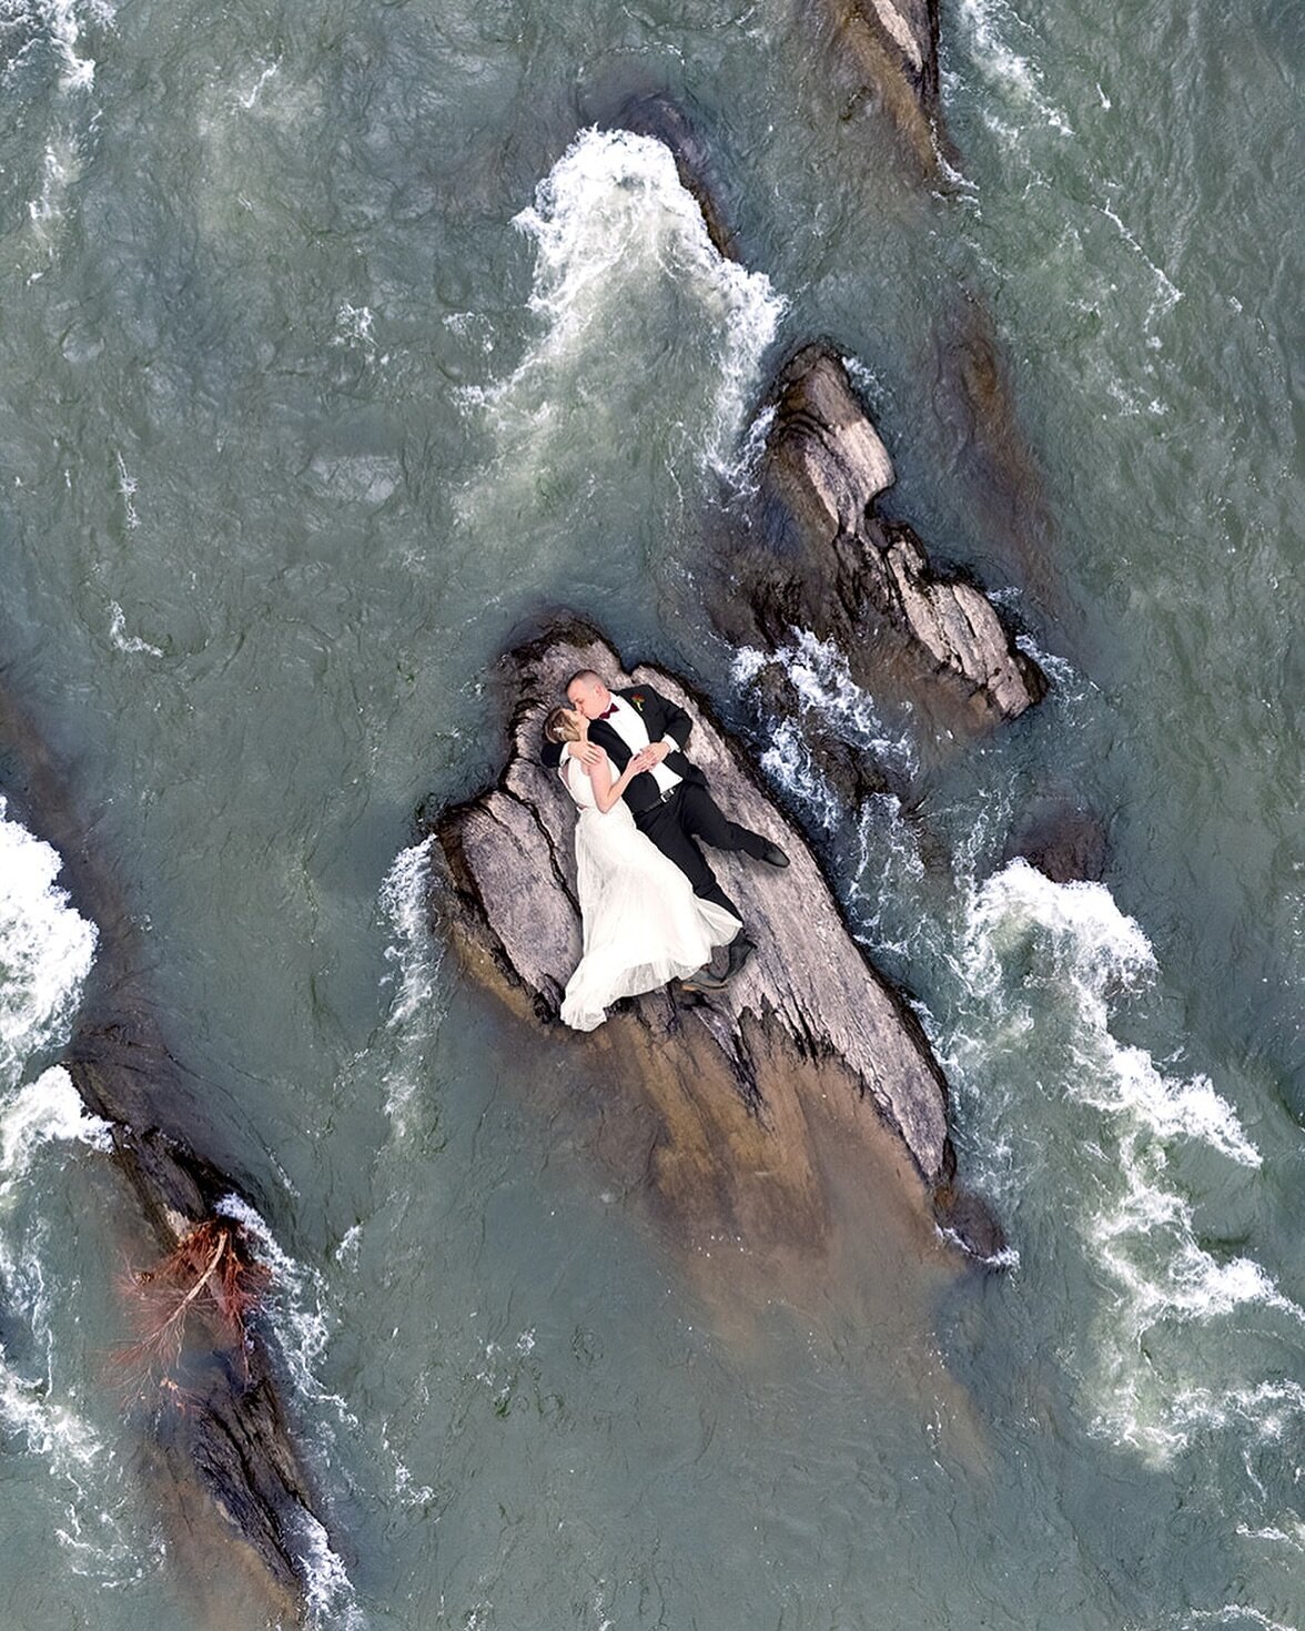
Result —
[[[1305, 1626], [1302, 57], [1281, 0], [949, 0], [930, 188], [816, 5], [0, 3], [3, 683], [258, 1200], [318, 1624]], [[594, 129], [648, 91], [741, 264]], [[698, 590], [812, 334], [1055, 678], [940, 754], [794, 630], [910, 809], [838, 802]], [[426, 931], [411, 812], [496, 773], [486, 670], [563, 603], [754, 732], [946, 1060], [1015, 1261], [923, 1367], [845, 1280], [713, 1319], [532, 1112], [574, 1044]], [[1003, 864], [1046, 796], [1103, 884]], [[57, 866], [7, 809], [0, 1620], [197, 1624], [106, 1380], [135, 1223], [55, 1065]]]

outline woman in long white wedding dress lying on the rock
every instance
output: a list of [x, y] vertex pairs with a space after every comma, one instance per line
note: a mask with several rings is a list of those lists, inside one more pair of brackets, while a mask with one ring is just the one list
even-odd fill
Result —
[[[550, 742], [586, 742], [589, 721], [574, 708], [555, 708], [543, 724]], [[636, 754], [618, 780], [600, 752], [581, 765], [563, 754], [558, 775], [576, 801], [576, 882], [581, 900], [584, 956], [566, 982], [561, 1018], [576, 1031], [602, 1024], [618, 997], [651, 992], [667, 980], [714, 990], [723, 980], [705, 967], [713, 946], [739, 933], [739, 920], [711, 900], [700, 900], [685, 874], [635, 825], [622, 794], [654, 760]]]

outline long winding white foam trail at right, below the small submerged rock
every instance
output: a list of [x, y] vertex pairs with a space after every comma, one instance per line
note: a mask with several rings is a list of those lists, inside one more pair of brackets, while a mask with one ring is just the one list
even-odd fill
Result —
[[[1207, 1076], [1168, 1075], [1145, 1049], [1111, 1034], [1111, 1005], [1145, 990], [1157, 972], [1139, 923], [1103, 884], [1055, 884], [1013, 861], [974, 892], [959, 967], [990, 1010], [975, 1026], [985, 1045], [1041, 1047], [1041, 1094], [1052, 1106], [1059, 1094], [1096, 1112], [1067, 1122], [1052, 1109], [1039, 1155], [1051, 1163], [1047, 1182], [1057, 1184], [1055, 1137], [1073, 1127], [1073, 1150], [1060, 1151], [1080, 1174], [1068, 1223], [1104, 1287], [1085, 1310], [1098, 1430], [1165, 1460], [1217, 1411], [1295, 1408], [1292, 1385], [1266, 1381], [1235, 1395], [1201, 1375], [1204, 1329], [1223, 1329], [1251, 1306], [1295, 1329], [1305, 1311], [1254, 1258], [1220, 1261], [1201, 1243], [1184, 1176], [1189, 1156], [1261, 1166], [1232, 1104]], [[1021, 970], [1016, 990], [1011, 970]], [[1036, 1116], [1037, 1106], [1021, 1111]], [[1179, 1336], [1184, 1331], [1192, 1336]], [[1214, 1342], [1215, 1350], [1225, 1347], [1227, 1334]]]

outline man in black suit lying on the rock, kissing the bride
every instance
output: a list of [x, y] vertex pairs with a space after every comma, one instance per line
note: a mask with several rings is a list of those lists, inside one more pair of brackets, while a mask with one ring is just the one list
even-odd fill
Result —
[[[648, 752], [654, 763], [630, 781], [625, 802], [635, 816], [635, 825], [679, 866], [693, 894], [724, 907], [739, 920], [739, 933], [729, 943], [729, 969], [724, 975], [726, 980], [731, 979], [757, 946], [742, 926], [742, 912], [716, 882], [697, 840], [710, 843], [713, 850], [742, 850], [770, 866], [788, 866], [788, 856], [776, 843], [729, 820], [716, 807], [706, 791], [706, 776], [683, 755], [693, 729], [683, 708], [677, 708], [649, 685], [631, 685], [613, 693], [592, 669], [571, 675], [566, 700], [589, 721], [589, 742], [545, 742], [545, 765], [560, 765], [563, 752], [581, 763], [592, 763], [600, 747], [620, 771], [631, 755]], [[705, 974], [693, 983], [708, 983], [711, 979]]]

